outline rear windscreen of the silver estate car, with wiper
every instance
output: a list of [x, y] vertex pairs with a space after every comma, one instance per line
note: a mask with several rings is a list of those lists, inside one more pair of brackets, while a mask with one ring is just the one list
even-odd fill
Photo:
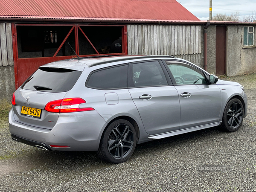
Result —
[[46, 92], [66, 92], [72, 89], [81, 71], [41, 67], [27, 79], [21, 88]]

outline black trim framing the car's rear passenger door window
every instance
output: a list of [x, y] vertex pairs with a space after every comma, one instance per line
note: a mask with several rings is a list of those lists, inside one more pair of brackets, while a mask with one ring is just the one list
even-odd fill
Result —
[[[151, 86], [140, 86], [140, 87], [135, 87], [134, 86], [134, 82], [132, 79], [133, 76], [133, 64], [138, 64], [138, 63], [146, 63], [146, 62], [151, 62], [151, 61], [158, 61], [158, 63], [160, 64], [160, 67], [163, 70], [163, 74], [166, 78], [167, 84], [166, 85], [151, 85]], [[163, 64], [163, 61], [161, 61], [161, 59], [153, 59], [153, 60], [143, 60], [143, 61], [136, 61], [136, 62], [132, 62], [129, 63], [128, 66], [128, 89], [133, 89], [133, 88], [142, 88], [142, 87], [163, 87], [163, 86], [173, 86], [174, 84], [172, 83], [172, 80], [166, 70], [166, 67]]]

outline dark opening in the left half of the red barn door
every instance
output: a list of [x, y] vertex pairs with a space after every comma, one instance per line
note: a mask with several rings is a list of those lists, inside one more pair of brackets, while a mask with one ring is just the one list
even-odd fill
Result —
[[[72, 26], [17, 26], [18, 58], [52, 57]], [[75, 30], [65, 41], [56, 56], [76, 55]]]

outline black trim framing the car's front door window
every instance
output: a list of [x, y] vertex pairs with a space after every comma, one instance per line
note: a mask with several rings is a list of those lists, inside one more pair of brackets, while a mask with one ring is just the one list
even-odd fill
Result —
[[166, 70], [167, 70], [167, 72], [168, 72], [168, 74], [169, 74], [170, 78], [172, 79], [172, 82], [173, 82], [173, 84], [174, 84], [175, 86], [180, 86], [180, 85], [181, 85], [181, 86], [183, 86], [183, 85], [195, 85], [195, 84], [176, 84], [175, 78], [174, 78], [174, 76], [172, 75], [171, 70], [170, 70], [169, 67], [167, 66], [166, 61], [172, 61], [172, 62], [174, 62], [174, 63], [177, 62], [177, 63], [181, 63], [181, 64], [188, 64], [189, 66], [194, 67], [195, 69], [197, 69], [197, 70], [199, 70], [201, 73], [203, 73], [205, 79], [207, 80], [207, 83], [205, 83], [205, 84], [196, 84], [196, 85], [209, 85], [209, 84], [210, 84], [210, 82], [209, 82], [209, 75], [208, 75], [207, 73], [205, 73], [205, 72], [204, 72], [200, 67], [198, 67], [198, 66], [193, 66], [193, 65], [191, 65], [191, 64], [188, 63], [188, 62], [184, 62], [184, 61], [180, 61], [180, 60], [176, 60], [176, 59], [174, 59], [174, 60], [162, 59], [162, 61], [163, 61], [164, 66], [166, 67]]

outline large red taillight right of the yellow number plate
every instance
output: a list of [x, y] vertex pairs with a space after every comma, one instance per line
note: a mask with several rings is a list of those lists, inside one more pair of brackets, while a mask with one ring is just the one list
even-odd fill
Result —
[[53, 113], [70, 113], [78, 111], [93, 111], [93, 108], [80, 108], [79, 105], [86, 103], [81, 98], [67, 98], [47, 103], [45, 110]]

